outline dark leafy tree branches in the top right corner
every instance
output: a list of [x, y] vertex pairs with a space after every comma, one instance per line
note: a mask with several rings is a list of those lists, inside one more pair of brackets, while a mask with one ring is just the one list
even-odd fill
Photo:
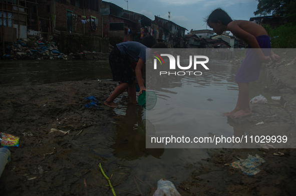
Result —
[[296, 0], [257, 0], [257, 10], [254, 11], [255, 15], [280, 15], [286, 16], [294, 12], [290, 7], [294, 7]]

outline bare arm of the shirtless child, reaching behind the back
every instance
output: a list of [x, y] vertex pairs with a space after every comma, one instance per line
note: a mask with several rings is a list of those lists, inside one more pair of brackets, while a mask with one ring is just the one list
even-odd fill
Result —
[[[240, 28], [237, 23], [230, 22], [227, 25], [227, 30], [231, 31], [232, 34], [235, 35], [236, 37], [244, 39], [251, 46], [251, 48], [260, 48], [255, 36], [243, 30], [242, 28]], [[259, 59], [262, 62], [268, 63], [271, 60], [269, 56], [265, 56], [263, 54], [262, 50], [256, 50], [256, 51]]]

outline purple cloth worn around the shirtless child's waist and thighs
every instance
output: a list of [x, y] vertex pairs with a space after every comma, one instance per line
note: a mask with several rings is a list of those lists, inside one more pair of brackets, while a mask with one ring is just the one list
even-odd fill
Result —
[[[271, 51], [270, 39], [268, 35], [259, 35], [256, 37], [260, 48], [265, 56]], [[264, 49], [263, 49], [264, 48]], [[258, 80], [262, 62], [252, 48], [248, 47], [236, 75], [235, 82], [248, 83]]]

